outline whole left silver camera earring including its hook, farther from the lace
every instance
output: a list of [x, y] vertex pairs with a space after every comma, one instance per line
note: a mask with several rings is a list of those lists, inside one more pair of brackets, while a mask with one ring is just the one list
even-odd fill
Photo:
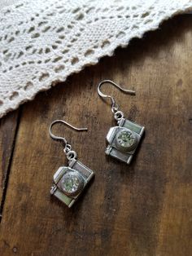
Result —
[[56, 123], [63, 123], [77, 131], [87, 130], [87, 128], [76, 128], [63, 120], [55, 120], [50, 124], [50, 137], [63, 144], [63, 152], [68, 158], [68, 166], [59, 167], [55, 172], [54, 185], [50, 189], [50, 194], [55, 195], [70, 208], [81, 195], [90, 179], [94, 177], [94, 171], [77, 161], [77, 154], [72, 150], [72, 145], [68, 143], [67, 139], [53, 135], [51, 129]]

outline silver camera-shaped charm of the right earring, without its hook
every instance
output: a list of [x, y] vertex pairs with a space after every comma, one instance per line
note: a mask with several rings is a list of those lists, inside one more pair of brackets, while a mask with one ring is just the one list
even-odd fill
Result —
[[145, 127], [121, 118], [119, 126], [111, 127], [107, 134], [106, 154], [130, 164]]

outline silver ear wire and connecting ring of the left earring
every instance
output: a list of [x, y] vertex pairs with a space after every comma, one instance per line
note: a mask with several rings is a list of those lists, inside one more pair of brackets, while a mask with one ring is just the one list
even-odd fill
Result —
[[72, 160], [72, 158], [76, 157], [76, 152], [72, 151], [72, 145], [68, 143], [68, 141], [67, 141], [67, 139], [65, 139], [65, 137], [54, 135], [51, 131], [52, 127], [55, 126], [56, 123], [63, 123], [64, 125], [72, 128], [73, 130], [76, 130], [76, 131], [85, 131], [88, 129], [87, 128], [76, 128], [75, 126], [70, 125], [67, 121], [63, 121], [63, 120], [55, 120], [55, 121], [51, 122], [50, 128], [49, 128], [50, 137], [52, 139], [61, 141], [61, 143], [63, 144], [63, 147], [64, 147], [63, 151], [67, 155], [68, 160]]

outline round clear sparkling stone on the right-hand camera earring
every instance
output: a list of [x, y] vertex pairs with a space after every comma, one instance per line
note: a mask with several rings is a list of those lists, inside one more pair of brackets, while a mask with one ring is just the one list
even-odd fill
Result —
[[132, 148], [136, 137], [131, 130], [122, 130], [117, 134], [116, 141], [122, 148]]

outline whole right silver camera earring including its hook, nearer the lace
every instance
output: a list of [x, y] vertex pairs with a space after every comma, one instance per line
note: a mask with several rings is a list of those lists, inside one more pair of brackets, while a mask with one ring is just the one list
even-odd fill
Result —
[[104, 95], [103, 92], [101, 92], [100, 89], [104, 83], [111, 83], [112, 86], [116, 86], [119, 90], [130, 95], [135, 95], [135, 91], [125, 90], [111, 80], [104, 80], [98, 84], [98, 95], [102, 98], [111, 99], [111, 111], [118, 124], [118, 126], [111, 127], [107, 133], [108, 146], [106, 148], [106, 154], [130, 164], [137, 145], [142, 139], [145, 127], [139, 126], [133, 121], [124, 118], [124, 113], [119, 110], [119, 106], [116, 104], [114, 97]]

